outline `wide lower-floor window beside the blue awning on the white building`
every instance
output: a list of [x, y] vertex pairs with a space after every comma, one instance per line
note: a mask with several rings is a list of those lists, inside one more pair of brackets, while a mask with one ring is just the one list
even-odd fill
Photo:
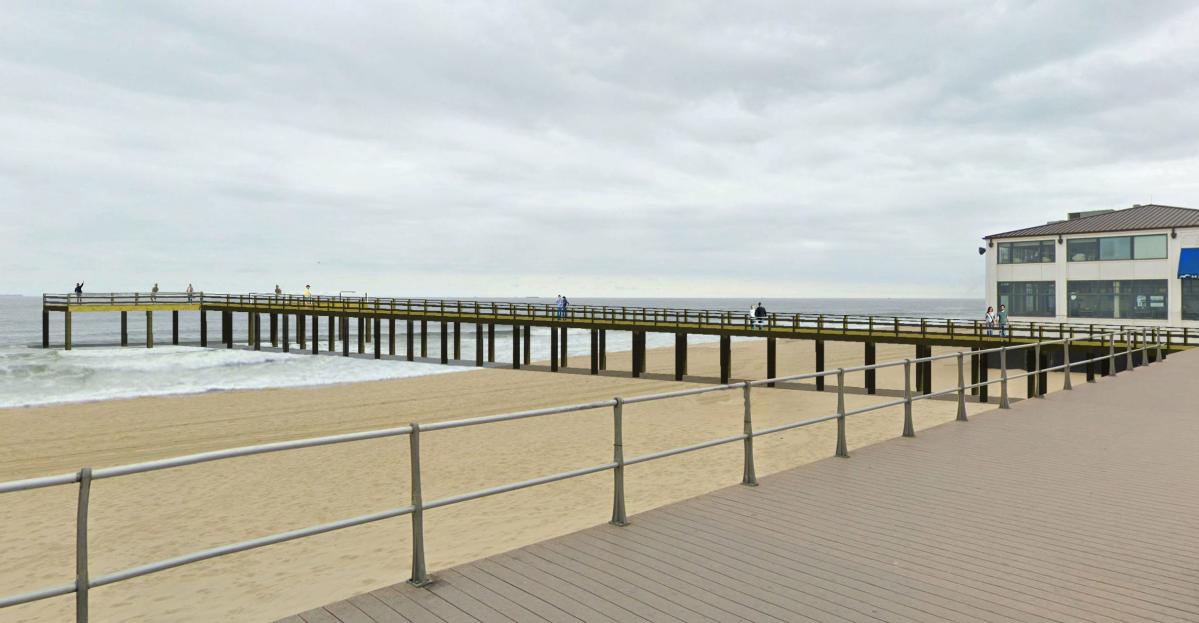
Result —
[[1067, 312], [1070, 317], [1165, 320], [1168, 288], [1165, 279], [1070, 282]]

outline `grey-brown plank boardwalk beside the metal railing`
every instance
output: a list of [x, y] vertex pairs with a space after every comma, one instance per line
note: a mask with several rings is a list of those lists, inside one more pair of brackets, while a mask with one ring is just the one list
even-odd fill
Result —
[[1199, 352], [288, 617], [1199, 621]]

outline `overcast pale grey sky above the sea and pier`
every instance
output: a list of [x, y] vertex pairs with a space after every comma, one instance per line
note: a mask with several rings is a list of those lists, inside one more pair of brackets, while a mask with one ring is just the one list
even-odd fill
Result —
[[1199, 207], [1192, 1], [5, 2], [0, 292], [977, 296]]

